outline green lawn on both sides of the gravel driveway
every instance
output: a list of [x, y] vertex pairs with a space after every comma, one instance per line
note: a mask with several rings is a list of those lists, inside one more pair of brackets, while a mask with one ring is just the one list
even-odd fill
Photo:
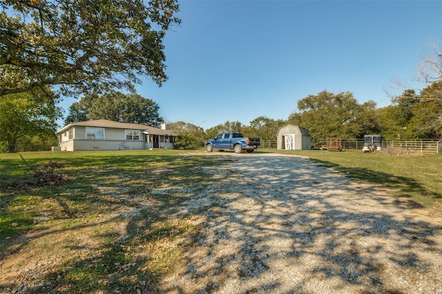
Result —
[[[442, 207], [442, 155], [284, 153], [385, 185], [395, 197]], [[20, 153], [0, 159], [1, 293], [20, 287], [27, 293], [155, 291], [161, 277], [183, 266], [180, 256], [200, 226], [195, 215], [171, 217], [186, 195], [169, 191], [204, 189], [211, 179], [200, 167], [215, 164], [213, 157], [188, 150]], [[50, 160], [64, 164], [58, 173], [66, 182], [30, 185], [30, 166]]]

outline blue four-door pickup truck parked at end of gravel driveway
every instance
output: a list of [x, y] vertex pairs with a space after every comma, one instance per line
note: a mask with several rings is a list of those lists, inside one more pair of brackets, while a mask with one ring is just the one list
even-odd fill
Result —
[[215, 138], [206, 141], [207, 152], [212, 152], [213, 149], [224, 151], [233, 149], [235, 153], [242, 153], [246, 150], [252, 153], [260, 146], [259, 138], [244, 138], [242, 133], [222, 133]]

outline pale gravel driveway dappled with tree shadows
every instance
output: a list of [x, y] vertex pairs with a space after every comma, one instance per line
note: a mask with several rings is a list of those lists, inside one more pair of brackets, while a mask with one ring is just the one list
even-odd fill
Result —
[[[309, 159], [211, 153], [204, 224], [164, 293], [442, 293], [442, 217]], [[188, 191], [189, 192], [189, 191]]]

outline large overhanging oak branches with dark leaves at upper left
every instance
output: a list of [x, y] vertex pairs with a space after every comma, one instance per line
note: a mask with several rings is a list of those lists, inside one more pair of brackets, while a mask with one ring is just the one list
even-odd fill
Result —
[[162, 40], [176, 0], [2, 0], [0, 96], [57, 85], [75, 92], [166, 81]]

